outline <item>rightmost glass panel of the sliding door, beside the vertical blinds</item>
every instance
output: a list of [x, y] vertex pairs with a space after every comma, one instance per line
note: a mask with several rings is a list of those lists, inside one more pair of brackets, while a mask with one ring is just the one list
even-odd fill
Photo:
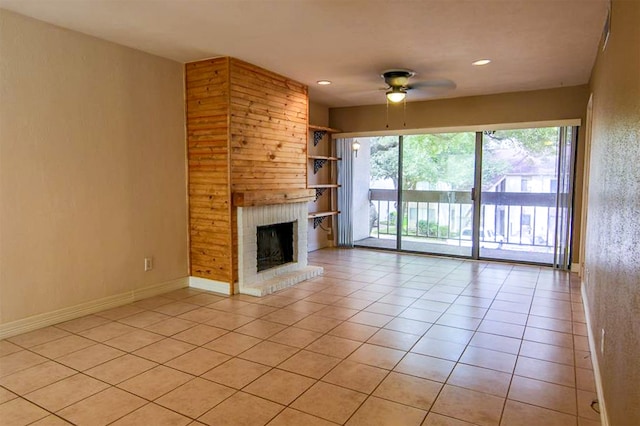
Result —
[[484, 133], [480, 257], [553, 263], [560, 131]]

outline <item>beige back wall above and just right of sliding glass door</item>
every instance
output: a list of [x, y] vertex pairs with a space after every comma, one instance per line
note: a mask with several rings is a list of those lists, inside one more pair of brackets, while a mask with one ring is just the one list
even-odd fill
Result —
[[[382, 95], [381, 95], [382, 96]], [[411, 93], [409, 93], [411, 96]], [[560, 89], [472, 96], [426, 102], [409, 102], [406, 126], [403, 126], [401, 105], [389, 106], [389, 128], [386, 127], [386, 106], [332, 108], [331, 127], [344, 132], [370, 132], [404, 129], [461, 128], [490, 129], [495, 124], [533, 123], [581, 119], [584, 122], [589, 100], [589, 87], [573, 86]], [[573, 262], [579, 264], [580, 215], [582, 206], [582, 173], [584, 163], [584, 132], [579, 132], [576, 198], [574, 212]]]

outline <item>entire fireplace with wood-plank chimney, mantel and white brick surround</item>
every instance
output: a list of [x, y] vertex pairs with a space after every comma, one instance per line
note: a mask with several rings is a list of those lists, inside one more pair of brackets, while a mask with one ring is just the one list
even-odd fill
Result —
[[[307, 86], [228, 57], [186, 64], [185, 80], [190, 283], [261, 295], [306, 279], [306, 207], [315, 196], [307, 188]], [[263, 222], [288, 204], [300, 204], [296, 216]], [[246, 252], [255, 251], [257, 229], [245, 220], [254, 213], [259, 226], [295, 223], [293, 262], [258, 273], [255, 252]]]

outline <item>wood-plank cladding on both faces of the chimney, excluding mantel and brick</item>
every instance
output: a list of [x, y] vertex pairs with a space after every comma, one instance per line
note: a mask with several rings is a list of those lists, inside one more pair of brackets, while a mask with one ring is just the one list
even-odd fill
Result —
[[234, 58], [187, 64], [191, 274], [237, 280], [233, 192], [307, 186], [307, 87]]

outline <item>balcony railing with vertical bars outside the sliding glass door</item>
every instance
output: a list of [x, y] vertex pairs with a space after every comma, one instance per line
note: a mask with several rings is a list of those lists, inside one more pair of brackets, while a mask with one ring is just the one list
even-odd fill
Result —
[[[397, 191], [370, 189], [375, 208], [371, 237], [396, 235]], [[553, 247], [556, 194], [482, 192], [480, 239], [503, 245]], [[447, 244], [471, 239], [473, 201], [470, 191], [402, 192], [401, 235]]]

